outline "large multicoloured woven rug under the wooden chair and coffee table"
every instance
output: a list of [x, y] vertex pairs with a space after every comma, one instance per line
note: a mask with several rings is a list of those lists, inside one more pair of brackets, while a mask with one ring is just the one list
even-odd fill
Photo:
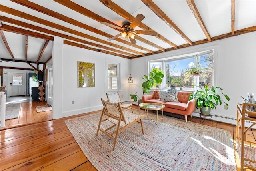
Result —
[[236, 170], [229, 131], [164, 116], [158, 127], [150, 120], [143, 121], [144, 135], [139, 123], [120, 133], [112, 151], [112, 139], [102, 132], [96, 136], [99, 119], [100, 113], [95, 113], [65, 121], [84, 155], [99, 171]]

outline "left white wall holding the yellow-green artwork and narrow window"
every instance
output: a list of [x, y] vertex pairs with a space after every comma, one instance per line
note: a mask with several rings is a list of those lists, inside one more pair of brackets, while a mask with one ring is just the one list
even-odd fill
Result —
[[[58, 45], [55, 41], [58, 41]], [[54, 51], [58, 51], [53, 53], [54, 119], [102, 109], [100, 98], [106, 100], [106, 59], [120, 63], [122, 91], [119, 93], [123, 95], [122, 101], [129, 101], [128, 78], [131, 60], [69, 46], [60, 41], [62, 41], [60, 38], [59, 40], [54, 38]], [[95, 87], [78, 88], [78, 61], [95, 63]], [[73, 100], [74, 104], [72, 104]]]

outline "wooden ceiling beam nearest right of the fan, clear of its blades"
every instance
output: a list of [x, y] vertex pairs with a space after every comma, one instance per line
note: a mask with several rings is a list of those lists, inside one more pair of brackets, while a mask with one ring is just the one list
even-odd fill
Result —
[[150, 10], [152, 10], [163, 22], [165, 22], [174, 32], [182, 37], [188, 44], [192, 45], [193, 42], [186, 36], [176, 24], [152, 1], [152, 0], [141, 0]]

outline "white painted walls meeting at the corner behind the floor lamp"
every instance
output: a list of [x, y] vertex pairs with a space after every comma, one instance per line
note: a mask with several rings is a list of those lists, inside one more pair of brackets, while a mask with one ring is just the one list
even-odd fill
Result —
[[[256, 32], [251, 32], [133, 60], [69, 46], [63, 44], [62, 38], [55, 37], [53, 45], [54, 119], [102, 109], [100, 98], [106, 99], [106, 59], [120, 62], [122, 91], [119, 93], [123, 95], [122, 101], [129, 101], [129, 74], [131, 74], [134, 81], [131, 84], [131, 93], [138, 91], [138, 95], [142, 96], [141, 77], [147, 74], [148, 60], [212, 48], [216, 53], [216, 58], [214, 59], [214, 80], [216, 85], [214, 86], [222, 87], [224, 93], [231, 99], [228, 103], [230, 106], [228, 110], [224, 110], [224, 105], [222, 105], [213, 110], [212, 114], [236, 119], [236, 103], [243, 102], [241, 95], [246, 97], [248, 92], [256, 94], [256, 76], [254, 74], [256, 64], [255, 37]], [[78, 61], [95, 63], [95, 87], [78, 88]], [[75, 101], [74, 104], [72, 104], [72, 100]], [[218, 119], [219, 121], [226, 121], [222, 118], [216, 118], [216, 120]], [[232, 124], [236, 124], [236, 121], [234, 120]]]

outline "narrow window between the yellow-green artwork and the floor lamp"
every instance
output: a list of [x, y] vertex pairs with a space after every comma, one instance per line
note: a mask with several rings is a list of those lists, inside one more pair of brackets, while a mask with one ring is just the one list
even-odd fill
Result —
[[119, 90], [119, 64], [115, 62], [106, 62], [106, 91]]

